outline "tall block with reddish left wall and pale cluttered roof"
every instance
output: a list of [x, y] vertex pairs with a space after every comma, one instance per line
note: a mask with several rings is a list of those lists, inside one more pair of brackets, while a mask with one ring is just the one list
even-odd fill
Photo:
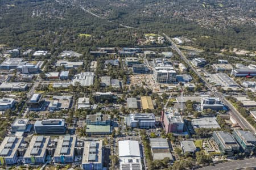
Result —
[[181, 133], [184, 129], [184, 121], [177, 109], [162, 112], [161, 120], [166, 133]]

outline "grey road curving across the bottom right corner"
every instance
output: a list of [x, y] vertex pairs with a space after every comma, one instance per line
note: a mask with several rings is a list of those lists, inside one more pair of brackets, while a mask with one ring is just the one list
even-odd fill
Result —
[[225, 162], [220, 164], [215, 164], [214, 166], [208, 166], [199, 168], [198, 170], [232, 170], [232, 169], [242, 169], [256, 167], [256, 159], [244, 159], [236, 160], [232, 162]]

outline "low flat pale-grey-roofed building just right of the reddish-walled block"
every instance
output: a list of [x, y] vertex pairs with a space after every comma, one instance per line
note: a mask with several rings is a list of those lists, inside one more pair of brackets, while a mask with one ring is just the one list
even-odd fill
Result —
[[218, 122], [215, 117], [203, 117], [203, 118], [193, 118], [191, 120], [191, 125], [193, 129], [196, 128], [208, 128], [208, 129], [216, 129], [220, 128]]

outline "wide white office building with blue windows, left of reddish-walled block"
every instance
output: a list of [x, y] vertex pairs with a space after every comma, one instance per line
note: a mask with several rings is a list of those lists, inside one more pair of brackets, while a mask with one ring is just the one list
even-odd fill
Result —
[[126, 117], [126, 125], [131, 128], [155, 128], [155, 115], [153, 113], [131, 113]]

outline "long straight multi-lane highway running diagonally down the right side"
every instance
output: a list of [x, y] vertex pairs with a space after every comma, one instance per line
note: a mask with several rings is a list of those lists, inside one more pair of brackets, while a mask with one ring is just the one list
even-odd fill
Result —
[[230, 113], [232, 113], [233, 118], [238, 122], [238, 124], [241, 126], [242, 129], [249, 129], [250, 131], [253, 131], [254, 133], [256, 133], [256, 130], [254, 129], [253, 126], [251, 126], [251, 124], [249, 122], [247, 122], [247, 120], [237, 111], [236, 108], [233, 107], [233, 105], [225, 99], [225, 96], [216, 90], [215, 87], [212, 87], [207, 80], [205, 80], [205, 78], [203, 78], [200, 73], [195, 69], [195, 67], [193, 67], [191, 65], [191, 63], [189, 62], [189, 60], [184, 56], [184, 54], [180, 51], [179, 48], [177, 48], [176, 44], [174, 43], [174, 41], [171, 40], [171, 38], [169, 36], [167, 36], [165, 33], [163, 33], [164, 36], [166, 36], [167, 40], [170, 41], [172, 43], [172, 49], [176, 50], [176, 52], [180, 55], [181, 59], [183, 59], [183, 61], [185, 63], [187, 63], [187, 65], [189, 67], [191, 67], [191, 69], [197, 74], [197, 76], [199, 76], [199, 78], [204, 82], [205, 86], [207, 86], [207, 88], [212, 91], [217, 97], [219, 97], [222, 102], [229, 107]]

